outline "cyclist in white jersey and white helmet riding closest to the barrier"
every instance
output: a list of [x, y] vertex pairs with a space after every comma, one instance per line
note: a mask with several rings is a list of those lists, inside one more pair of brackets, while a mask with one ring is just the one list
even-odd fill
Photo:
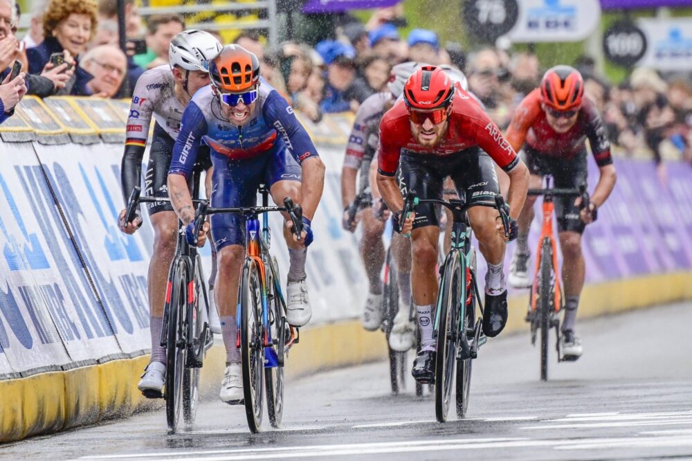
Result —
[[[154, 138], [149, 150], [149, 166], [145, 177], [145, 195], [168, 198], [166, 185], [173, 146], [180, 132], [183, 111], [192, 95], [210, 83], [208, 60], [221, 51], [221, 44], [209, 33], [185, 30], [176, 35], [169, 48], [169, 65], [150, 69], [142, 74], [134, 89], [127, 118], [127, 138], [122, 156], [122, 196], [129, 198], [133, 188], [140, 184], [142, 159], [149, 138], [149, 126], [154, 118]], [[207, 154], [200, 165], [211, 167]], [[209, 174], [207, 175], [210, 176]], [[178, 218], [170, 202], [160, 201], [148, 205], [154, 226], [154, 251], [149, 263], [149, 329], [152, 336], [152, 358], [138, 384], [139, 390], [149, 398], [161, 397], [165, 381], [165, 347], [161, 346], [163, 305], [167, 273], [176, 249]], [[134, 233], [142, 225], [137, 217], [125, 223], [125, 210], [120, 213], [120, 229]], [[200, 242], [200, 246], [204, 241]], [[211, 309], [212, 319], [218, 319]], [[218, 325], [218, 320], [215, 322]], [[220, 327], [217, 327], [220, 330]]]

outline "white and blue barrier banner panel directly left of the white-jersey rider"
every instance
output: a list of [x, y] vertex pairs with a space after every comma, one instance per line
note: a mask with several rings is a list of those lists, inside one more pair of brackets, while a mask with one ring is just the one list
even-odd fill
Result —
[[[149, 255], [117, 226], [122, 209], [119, 147], [37, 146], [122, 352], [148, 349]], [[111, 147], [111, 146], [108, 146]]]

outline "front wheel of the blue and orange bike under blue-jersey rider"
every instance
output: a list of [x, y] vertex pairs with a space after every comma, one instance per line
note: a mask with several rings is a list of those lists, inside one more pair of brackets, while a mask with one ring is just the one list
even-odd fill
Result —
[[240, 353], [245, 414], [252, 433], [262, 429], [264, 345], [262, 345], [262, 286], [257, 263], [248, 259], [240, 279]]

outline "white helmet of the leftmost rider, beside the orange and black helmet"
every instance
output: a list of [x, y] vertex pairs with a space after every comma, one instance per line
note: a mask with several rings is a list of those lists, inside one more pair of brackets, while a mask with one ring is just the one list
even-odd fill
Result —
[[221, 52], [221, 44], [203, 30], [183, 30], [171, 40], [168, 62], [187, 71], [208, 72], [208, 62]]

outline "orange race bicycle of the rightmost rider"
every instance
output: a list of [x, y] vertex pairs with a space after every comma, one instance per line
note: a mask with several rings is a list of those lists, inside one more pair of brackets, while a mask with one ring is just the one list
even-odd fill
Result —
[[543, 196], [543, 226], [538, 238], [536, 251], [536, 273], [531, 284], [531, 296], [529, 297], [529, 309], [526, 316], [531, 324], [531, 344], [536, 345], [536, 336], [540, 330], [540, 379], [548, 379], [548, 343], [549, 331], [555, 329], [555, 350], [558, 362], [570, 361], [570, 356], [565, 356], [560, 348], [560, 311], [563, 308], [563, 293], [558, 272], [558, 251], [553, 231], [553, 212], [555, 197], [574, 199], [581, 197], [580, 208], [588, 208], [589, 193], [586, 186], [577, 189], [551, 188], [552, 178], [546, 176], [543, 179], [543, 189], [529, 189], [528, 195]]

